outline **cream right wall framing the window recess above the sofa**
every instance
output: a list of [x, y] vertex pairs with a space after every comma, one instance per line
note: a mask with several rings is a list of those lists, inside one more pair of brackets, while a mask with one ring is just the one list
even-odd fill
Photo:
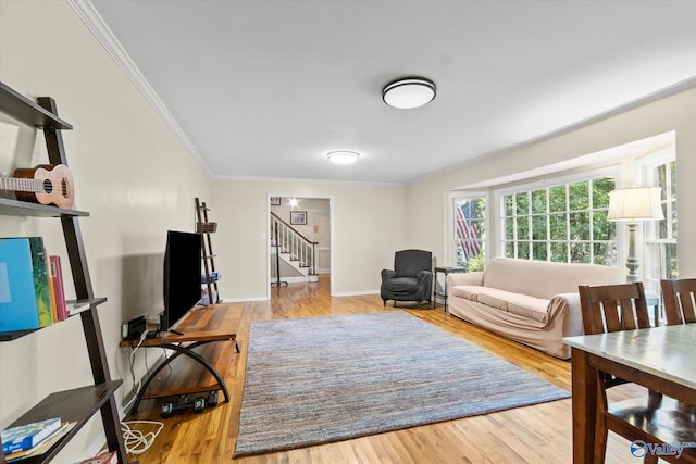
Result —
[[[562, 163], [586, 154], [674, 130], [676, 136], [679, 267], [696, 277], [696, 89], [667, 97], [538, 143], [482, 159], [408, 188], [409, 241], [444, 255], [446, 196], [450, 189]], [[413, 221], [415, 216], [421, 221]]]

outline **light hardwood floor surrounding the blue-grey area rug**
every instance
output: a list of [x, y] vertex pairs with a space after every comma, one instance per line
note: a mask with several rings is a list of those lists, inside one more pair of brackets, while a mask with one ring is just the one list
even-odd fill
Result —
[[[332, 314], [384, 311], [376, 294], [332, 298], [328, 278], [319, 283], [290, 284], [273, 288], [266, 302], [245, 303], [239, 344], [227, 386], [229, 403], [220, 403], [202, 414], [190, 410], [173, 417], [159, 417], [159, 403], [127, 419], [161, 421], [165, 424], [154, 444], [145, 453], [132, 456], [141, 464], [225, 463], [570, 463], [572, 461], [571, 400], [519, 407], [499, 413], [468, 417], [353, 440], [309, 447], [299, 450], [232, 459], [237, 436], [237, 421], [245, 378], [249, 324], [257, 319], [309, 317]], [[399, 308], [458, 337], [525, 368], [546, 380], [570, 390], [570, 363], [543, 354], [522, 344], [480, 329], [438, 309]], [[393, 310], [391, 303], [387, 310]], [[462, 360], [465, 363], [467, 360]], [[621, 390], [623, 389], [623, 390]], [[610, 400], [642, 394], [635, 386], [614, 388]], [[147, 402], [142, 403], [144, 406]], [[138, 426], [148, 430], [150, 426]], [[630, 443], [610, 436], [607, 463], [633, 463]]]

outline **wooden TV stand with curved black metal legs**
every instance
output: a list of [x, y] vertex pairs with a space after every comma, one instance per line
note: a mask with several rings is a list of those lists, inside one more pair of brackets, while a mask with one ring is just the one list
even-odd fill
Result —
[[[153, 369], [142, 383], [130, 410], [138, 412], [142, 399], [176, 397], [222, 390], [225, 401], [229, 392], [225, 376], [232, 356], [239, 353], [237, 331], [244, 304], [213, 304], [190, 311], [178, 324], [179, 334], [160, 333], [146, 338], [141, 347], [174, 351]], [[136, 347], [139, 340], [123, 340], [121, 347]], [[158, 374], [171, 366], [172, 373], [162, 378]]]

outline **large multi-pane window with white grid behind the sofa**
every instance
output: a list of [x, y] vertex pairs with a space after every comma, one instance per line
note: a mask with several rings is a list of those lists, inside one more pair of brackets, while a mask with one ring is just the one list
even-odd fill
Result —
[[617, 230], [607, 221], [616, 177], [604, 176], [504, 192], [505, 256], [561, 263], [617, 264]]

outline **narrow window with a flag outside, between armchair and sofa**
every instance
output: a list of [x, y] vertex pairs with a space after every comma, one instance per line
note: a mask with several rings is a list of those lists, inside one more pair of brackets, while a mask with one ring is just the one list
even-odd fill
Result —
[[486, 236], [486, 198], [451, 197], [450, 250], [455, 266], [483, 271]]

